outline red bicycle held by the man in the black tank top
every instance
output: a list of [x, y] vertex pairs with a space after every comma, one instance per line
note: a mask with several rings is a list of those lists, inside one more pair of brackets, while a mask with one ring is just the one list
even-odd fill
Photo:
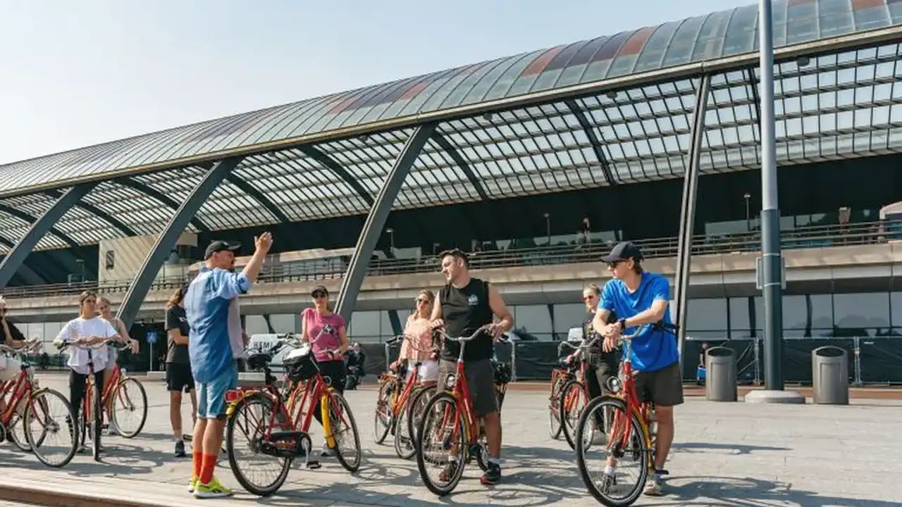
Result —
[[[488, 333], [491, 327], [491, 324], [486, 325], [476, 329], [470, 336], [457, 338], [437, 331], [444, 339], [460, 343], [460, 354], [457, 356], [455, 373], [447, 375], [444, 379], [444, 389], [437, 392], [426, 404], [414, 438], [418, 451], [416, 454], [419, 476], [429, 491], [440, 496], [454, 491], [464, 475], [465, 465], [474, 456], [483, 471], [488, 466], [485, 431], [480, 419], [474, 413], [473, 398], [466, 383], [464, 350], [467, 342]], [[499, 341], [510, 343], [507, 339]], [[507, 383], [511, 380], [510, 369], [506, 366], [495, 363], [495, 395], [498, 397], [499, 410]], [[442, 382], [442, 379], [439, 379], [439, 382]], [[434, 480], [429, 475], [428, 465], [441, 468], [437, 479]]]

